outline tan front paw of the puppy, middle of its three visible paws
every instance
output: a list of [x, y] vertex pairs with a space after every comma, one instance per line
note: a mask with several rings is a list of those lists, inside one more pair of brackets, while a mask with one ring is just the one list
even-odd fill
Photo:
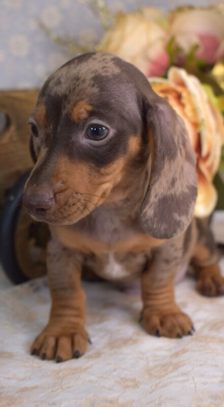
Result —
[[142, 322], [146, 332], [156, 336], [182, 338], [183, 335], [192, 335], [194, 331], [191, 319], [178, 307], [169, 313], [163, 309], [153, 312], [146, 308], [143, 310]]

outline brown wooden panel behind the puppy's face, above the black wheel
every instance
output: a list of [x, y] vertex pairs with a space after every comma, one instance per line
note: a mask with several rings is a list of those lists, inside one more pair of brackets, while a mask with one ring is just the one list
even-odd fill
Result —
[[19, 176], [32, 166], [27, 121], [37, 96], [37, 90], [0, 92], [0, 203]]

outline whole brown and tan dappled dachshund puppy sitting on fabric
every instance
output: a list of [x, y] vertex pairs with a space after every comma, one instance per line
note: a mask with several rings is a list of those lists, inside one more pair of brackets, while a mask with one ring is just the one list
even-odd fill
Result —
[[192, 334], [176, 274], [191, 263], [208, 296], [223, 294], [224, 282], [211, 232], [193, 217], [196, 159], [181, 118], [137, 68], [93, 52], [49, 77], [29, 122], [36, 163], [23, 205], [52, 237], [51, 311], [31, 353], [61, 362], [86, 351], [85, 269], [141, 279], [149, 334]]

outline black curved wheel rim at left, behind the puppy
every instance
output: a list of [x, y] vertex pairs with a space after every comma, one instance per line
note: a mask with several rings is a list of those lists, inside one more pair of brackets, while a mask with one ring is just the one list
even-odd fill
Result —
[[28, 170], [11, 189], [6, 198], [0, 219], [0, 261], [4, 271], [15, 284], [27, 281], [21, 271], [15, 252], [15, 230], [21, 210], [21, 201], [25, 182], [30, 174]]

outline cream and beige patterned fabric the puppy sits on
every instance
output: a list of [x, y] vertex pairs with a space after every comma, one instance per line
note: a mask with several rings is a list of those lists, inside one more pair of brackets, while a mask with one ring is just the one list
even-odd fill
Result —
[[[224, 274], [224, 260], [221, 267]], [[47, 322], [46, 278], [16, 287], [0, 278], [1, 407], [224, 405], [224, 297], [200, 296], [186, 277], [176, 297], [196, 332], [167, 339], [148, 336], [138, 324], [138, 294], [107, 283], [83, 285], [92, 344], [82, 358], [56, 364], [29, 355]]]

